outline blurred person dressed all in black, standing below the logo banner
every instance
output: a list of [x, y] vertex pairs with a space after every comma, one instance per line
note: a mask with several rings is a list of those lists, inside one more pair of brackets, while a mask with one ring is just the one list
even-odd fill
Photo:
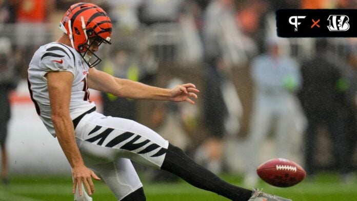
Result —
[[316, 137], [318, 128], [327, 126], [333, 145], [336, 166], [342, 175], [350, 172], [351, 161], [346, 149], [347, 131], [345, 122], [346, 81], [341, 70], [331, 61], [326, 39], [316, 41], [316, 55], [302, 65], [302, 89], [299, 92], [301, 105], [308, 120], [305, 133], [305, 166], [309, 177], [318, 169], [315, 165]]

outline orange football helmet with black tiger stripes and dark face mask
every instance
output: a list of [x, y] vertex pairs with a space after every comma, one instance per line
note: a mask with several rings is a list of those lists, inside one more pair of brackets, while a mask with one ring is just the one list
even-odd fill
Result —
[[91, 46], [89, 39], [97, 41], [98, 44], [103, 42], [111, 44], [112, 24], [110, 18], [101, 7], [95, 4], [73, 4], [63, 16], [60, 29], [69, 36], [72, 47], [81, 54], [90, 67], [100, 63], [101, 59], [91, 52], [97, 59], [94, 63], [89, 64], [90, 56], [87, 55]]

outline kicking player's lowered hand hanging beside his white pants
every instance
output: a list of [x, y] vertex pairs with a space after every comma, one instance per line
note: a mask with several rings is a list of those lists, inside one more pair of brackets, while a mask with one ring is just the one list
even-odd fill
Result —
[[87, 190], [89, 195], [94, 193], [94, 184], [92, 182], [92, 177], [95, 180], [101, 180], [95, 173], [88, 169], [86, 166], [78, 166], [72, 168], [72, 176], [73, 176], [73, 194], [76, 191], [76, 187], [78, 187], [78, 194], [80, 196], [83, 195], [82, 192], [82, 183]]

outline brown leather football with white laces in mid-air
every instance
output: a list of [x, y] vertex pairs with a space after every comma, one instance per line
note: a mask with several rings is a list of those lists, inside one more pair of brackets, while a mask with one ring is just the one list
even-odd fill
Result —
[[268, 184], [276, 187], [291, 187], [306, 176], [305, 170], [285, 158], [273, 158], [256, 169], [256, 173]]

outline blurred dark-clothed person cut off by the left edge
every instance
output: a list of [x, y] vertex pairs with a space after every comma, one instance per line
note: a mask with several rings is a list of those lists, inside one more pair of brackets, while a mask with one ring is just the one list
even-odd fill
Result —
[[11, 43], [8, 38], [0, 38], [0, 147], [1, 178], [4, 184], [9, 183], [8, 156], [6, 137], [10, 119], [9, 93], [16, 87], [15, 65], [12, 57]]

